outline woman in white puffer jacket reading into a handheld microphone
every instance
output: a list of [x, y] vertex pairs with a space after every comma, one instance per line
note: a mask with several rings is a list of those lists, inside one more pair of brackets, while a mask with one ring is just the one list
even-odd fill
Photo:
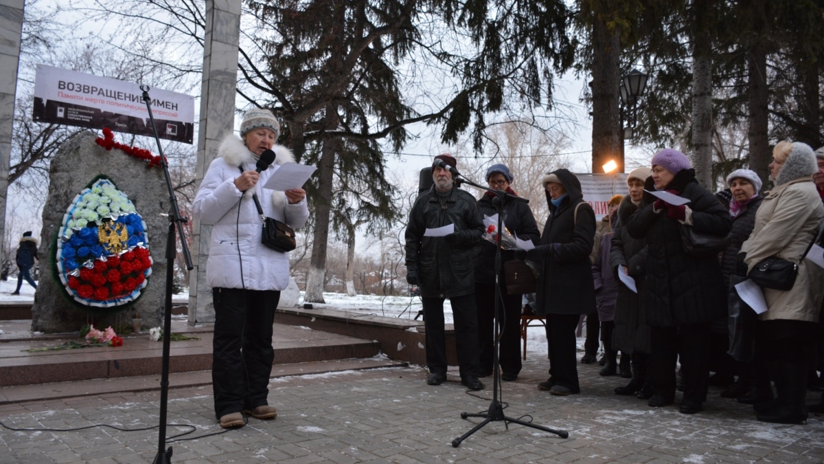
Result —
[[214, 407], [222, 428], [242, 427], [243, 414], [256, 419], [278, 415], [267, 396], [274, 310], [288, 286], [289, 256], [261, 244], [263, 220], [252, 194], [257, 193], [266, 216], [295, 229], [309, 217], [302, 188], [275, 192], [264, 187], [278, 166], [260, 173], [255, 169], [267, 149], [274, 150], [277, 165], [294, 161], [286, 147], [275, 144], [279, 130], [271, 111], [246, 111], [242, 140], [227, 135], [194, 197], [194, 214], [214, 225], [206, 278], [215, 311]]

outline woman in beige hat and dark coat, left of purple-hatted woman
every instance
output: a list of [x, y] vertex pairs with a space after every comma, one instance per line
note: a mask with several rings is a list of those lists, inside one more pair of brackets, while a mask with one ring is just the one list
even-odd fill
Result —
[[[616, 301], [615, 329], [612, 331], [612, 346], [621, 353], [632, 355], [632, 380], [625, 386], [617, 386], [616, 395], [634, 395], [642, 400], [652, 397], [648, 384], [649, 372], [649, 326], [644, 315], [644, 272], [646, 272], [647, 244], [644, 239], [634, 239], [626, 230], [626, 222], [638, 211], [644, 199], [644, 182], [653, 171], [650, 168], [633, 169], [626, 177], [629, 195], [618, 206], [615, 230], [610, 249], [610, 268], [624, 272], [635, 281], [638, 292], [631, 291], [623, 283], [618, 286]], [[616, 276], [616, 279], [618, 277]]]

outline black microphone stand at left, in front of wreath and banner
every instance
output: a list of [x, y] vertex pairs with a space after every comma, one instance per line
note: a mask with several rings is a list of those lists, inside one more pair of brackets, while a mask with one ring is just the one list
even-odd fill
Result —
[[160, 424], [157, 430], [157, 456], [155, 456], [154, 464], [165, 464], [171, 462], [171, 447], [164, 450], [166, 447], [166, 407], [169, 399], [169, 352], [171, 341], [171, 292], [172, 284], [175, 276], [175, 229], [177, 228], [180, 234], [180, 248], [183, 251], [183, 258], [186, 263], [186, 269], [194, 269], [192, 265], [192, 257], [189, 254], [189, 247], [186, 246], [185, 234], [183, 230], [183, 223], [188, 222], [187, 218], [180, 217], [180, 208], [177, 207], [177, 199], [175, 196], [175, 189], [171, 186], [171, 177], [169, 176], [169, 165], [166, 163], [166, 156], [163, 155], [163, 149], [160, 144], [160, 136], [157, 135], [157, 125], [155, 125], [154, 116], [152, 116], [151, 98], [149, 98], [149, 87], [141, 85], [140, 90], [143, 90], [143, 102], [146, 102], [146, 109], [149, 112], [149, 121], [152, 123], [152, 130], [154, 130], [155, 140], [157, 140], [157, 151], [160, 154], [160, 165], [163, 168], [163, 174], [166, 176], [166, 188], [169, 190], [169, 201], [171, 203], [169, 212], [169, 230], [166, 233], [166, 302], [165, 312], [163, 315], [163, 362], [162, 373], [160, 380]]

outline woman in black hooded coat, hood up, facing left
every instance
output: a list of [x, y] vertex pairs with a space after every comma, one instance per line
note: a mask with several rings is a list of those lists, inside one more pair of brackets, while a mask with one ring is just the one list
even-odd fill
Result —
[[550, 378], [538, 384], [552, 395], [580, 393], [575, 328], [580, 315], [596, 312], [592, 282], [595, 212], [583, 201], [581, 182], [567, 169], [543, 179], [550, 208], [541, 244], [527, 252], [540, 269], [536, 313], [546, 315]]

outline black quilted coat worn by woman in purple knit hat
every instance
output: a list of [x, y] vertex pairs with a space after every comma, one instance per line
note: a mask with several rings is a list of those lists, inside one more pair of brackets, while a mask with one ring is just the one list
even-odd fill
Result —
[[[653, 190], [648, 178], [647, 190]], [[731, 220], [718, 199], [695, 180], [695, 170], [684, 169], [672, 179], [667, 190], [690, 200], [692, 227], [696, 232], [725, 235]], [[647, 323], [653, 327], [702, 324], [727, 317], [721, 267], [714, 254], [688, 254], [681, 245], [681, 224], [666, 211], [653, 211], [654, 198], [641, 201], [639, 210], [626, 223], [635, 239], [648, 246], [646, 291]]]

